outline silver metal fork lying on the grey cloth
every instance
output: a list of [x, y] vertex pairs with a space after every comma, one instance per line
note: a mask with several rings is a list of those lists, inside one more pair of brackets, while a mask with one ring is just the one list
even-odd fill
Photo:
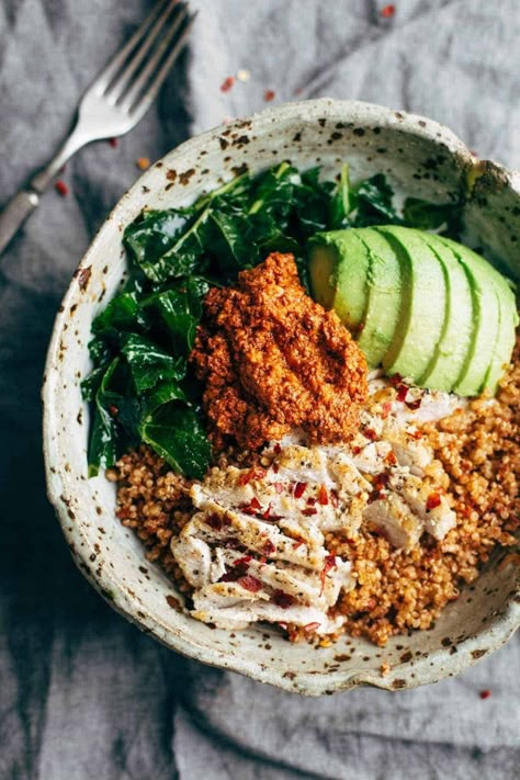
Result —
[[86, 144], [125, 135], [146, 114], [186, 43], [196, 12], [160, 0], [83, 94], [76, 124], [50, 162], [0, 213], [0, 255], [36, 208], [39, 197]]

